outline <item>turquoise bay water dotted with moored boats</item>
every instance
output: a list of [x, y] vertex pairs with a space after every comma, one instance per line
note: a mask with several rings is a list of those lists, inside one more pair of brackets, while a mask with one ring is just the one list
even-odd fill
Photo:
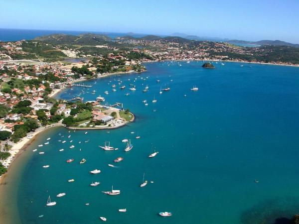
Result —
[[[250, 219], [257, 219], [253, 214], [260, 214], [263, 220], [265, 213], [269, 223], [293, 215], [299, 205], [299, 69], [214, 64], [216, 69], [209, 70], [201, 68], [202, 62], [150, 63], [141, 74], [86, 81], [93, 86], [89, 90], [64, 90], [57, 97], [70, 99], [84, 90], [84, 100], [101, 94], [106, 102], [121, 102], [136, 114], [136, 120], [109, 133], [68, 133], [61, 127], [39, 136], [29, 147], [32, 158], [18, 186], [21, 222], [93, 224], [102, 222], [99, 217], [104, 216], [112, 224], [253, 224]], [[144, 81], [141, 77], [149, 78]], [[135, 78], [137, 91], [125, 96]], [[111, 91], [108, 83], [117, 84], [117, 79], [123, 80], [126, 90]], [[146, 85], [149, 92], [143, 93]], [[194, 85], [198, 92], [190, 91]], [[160, 87], [165, 86], [171, 90], [159, 95]], [[106, 90], [109, 95], [104, 95]], [[154, 95], [156, 104], [151, 103]], [[148, 107], [143, 100], [148, 100]], [[137, 132], [140, 139], [135, 138]], [[48, 145], [37, 147], [48, 137]], [[127, 153], [121, 142], [124, 138], [134, 144]], [[120, 149], [101, 150], [98, 145], [105, 140]], [[70, 149], [72, 144], [75, 148]], [[149, 159], [152, 146], [159, 154]], [[45, 154], [32, 152], [34, 148]], [[58, 151], [61, 148], [64, 151]], [[120, 167], [109, 167], [119, 156], [125, 158], [117, 164]], [[75, 161], [66, 163], [69, 158]], [[79, 164], [82, 158], [87, 159], [85, 164]], [[50, 167], [42, 168], [46, 164]], [[89, 174], [94, 169], [102, 172]], [[144, 172], [154, 183], [140, 188]], [[75, 182], [68, 183], [72, 178]], [[91, 187], [92, 181], [101, 184]], [[121, 195], [101, 193], [112, 185]], [[61, 192], [66, 196], [56, 198]], [[49, 195], [57, 205], [46, 208]], [[283, 213], [265, 212], [277, 205]], [[127, 208], [127, 213], [119, 213], [121, 208]], [[173, 216], [157, 216], [161, 211]]]

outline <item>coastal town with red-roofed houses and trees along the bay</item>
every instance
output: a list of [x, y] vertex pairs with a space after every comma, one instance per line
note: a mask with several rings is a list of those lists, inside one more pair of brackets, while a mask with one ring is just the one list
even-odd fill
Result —
[[111, 41], [104, 35], [85, 34], [79, 39], [82, 43], [76, 42], [74, 36], [58, 34], [0, 42], [0, 174], [6, 172], [15, 154], [36, 130], [55, 125], [116, 128], [134, 119], [129, 110], [120, 108], [121, 104], [110, 107], [103, 104], [103, 99], [83, 103], [80, 97], [69, 102], [53, 98], [77, 81], [142, 72], [146, 70], [142, 63], [164, 60], [298, 65], [292, 58], [283, 61], [276, 60], [275, 55], [269, 57], [274, 46], [249, 48], [157, 36], [124, 36]]

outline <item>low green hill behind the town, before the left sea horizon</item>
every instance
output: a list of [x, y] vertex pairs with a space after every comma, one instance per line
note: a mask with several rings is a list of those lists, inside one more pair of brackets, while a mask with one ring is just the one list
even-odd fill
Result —
[[75, 35], [66, 34], [52, 34], [48, 36], [36, 37], [35, 40], [41, 40], [51, 44], [80, 44], [80, 45], [97, 45], [105, 44], [107, 41], [111, 41], [111, 38], [106, 35], [99, 35], [93, 33]]

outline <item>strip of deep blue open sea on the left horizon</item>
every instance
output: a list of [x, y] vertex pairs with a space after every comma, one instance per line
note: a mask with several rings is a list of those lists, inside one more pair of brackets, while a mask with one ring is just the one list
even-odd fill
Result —
[[134, 37], [143, 37], [147, 34], [137, 34], [137, 33], [117, 33], [117, 32], [95, 32], [95, 31], [70, 31], [70, 30], [38, 30], [38, 29], [4, 29], [0, 28], [0, 41], [17, 41], [17, 40], [31, 40], [38, 36], [45, 36], [50, 34], [69, 34], [69, 35], [79, 35], [83, 33], [95, 33], [107, 35], [111, 38], [118, 36], [131, 35]]

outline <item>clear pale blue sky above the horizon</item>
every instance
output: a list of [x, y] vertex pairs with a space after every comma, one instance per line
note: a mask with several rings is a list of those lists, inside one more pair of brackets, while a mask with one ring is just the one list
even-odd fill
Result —
[[0, 0], [0, 28], [299, 43], [299, 0]]

